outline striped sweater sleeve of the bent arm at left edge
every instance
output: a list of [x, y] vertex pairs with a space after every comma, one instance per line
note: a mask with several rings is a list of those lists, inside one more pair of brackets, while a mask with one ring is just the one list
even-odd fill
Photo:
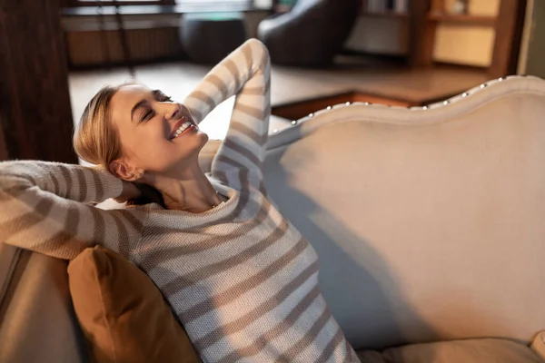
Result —
[[79, 165], [0, 162], [0, 242], [64, 260], [103, 244], [128, 259], [144, 212], [85, 204], [122, 191], [122, 182], [113, 175]]

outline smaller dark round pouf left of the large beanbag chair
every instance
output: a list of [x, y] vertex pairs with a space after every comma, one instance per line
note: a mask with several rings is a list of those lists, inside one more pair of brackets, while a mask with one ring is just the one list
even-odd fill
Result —
[[242, 13], [185, 14], [180, 39], [190, 60], [217, 64], [246, 40]]

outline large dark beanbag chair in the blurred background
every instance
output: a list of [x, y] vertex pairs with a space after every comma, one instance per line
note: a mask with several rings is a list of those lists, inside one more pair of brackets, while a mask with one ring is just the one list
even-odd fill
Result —
[[292, 10], [272, 15], [258, 27], [273, 64], [330, 65], [359, 15], [362, 0], [299, 0]]

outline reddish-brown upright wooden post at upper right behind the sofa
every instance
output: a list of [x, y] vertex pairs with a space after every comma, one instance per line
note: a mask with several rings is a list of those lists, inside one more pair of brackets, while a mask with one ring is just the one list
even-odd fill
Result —
[[526, 0], [501, 0], [489, 67], [491, 77], [516, 73], [525, 11]]

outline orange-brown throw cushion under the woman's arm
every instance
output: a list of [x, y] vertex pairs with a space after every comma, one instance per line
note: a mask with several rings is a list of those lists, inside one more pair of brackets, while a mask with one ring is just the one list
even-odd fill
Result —
[[96, 362], [200, 361], [152, 280], [113, 250], [84, 250], [70, 261], [68, 276]]

